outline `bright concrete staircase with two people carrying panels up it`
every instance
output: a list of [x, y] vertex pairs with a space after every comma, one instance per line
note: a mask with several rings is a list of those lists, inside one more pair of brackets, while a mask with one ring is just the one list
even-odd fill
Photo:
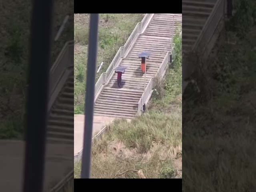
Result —
[[[174, 29], [172, 28], [172, 16]], [[117, 86], [116, 74], [102, 89], [95, 106], [95, 116], [112, 116], [132, 118], [138, 111], [138, 102], [144, 91], [144, 74], [140, 69], [141, 59], [138, 54], [149, 52], [146, 60], [146, 86], [162, 64], [171, 48], [172, 32], [177, 25], [182, 26], [182, 14], [154, 14], [148, 27], [140, 34], [130, 52], [124, 57], [120, 66], [128, 67], [122, 75], [122, 88]]]

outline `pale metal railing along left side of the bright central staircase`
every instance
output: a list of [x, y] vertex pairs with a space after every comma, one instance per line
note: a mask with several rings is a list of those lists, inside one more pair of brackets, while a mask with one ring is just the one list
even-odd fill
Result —
[[102, 87], [108, 83], [108, 81], [112, 78], [114, 74], [114, 68], [116, 68], [122, 61], [122, 58], [125, 56], [125, 54], [128, 52], [130, 46], [136, 40], [138, 35], [142, 32], [142, 30], [147, 26], [148, 21], [152, 17], [153, 14], [146, 14], [142, 20], [142, 22], [139, 22], [136, 27], [134, 28], [132, 34], [124, 44], [124, 46], [120, 47], [118, 52], [116, 53], [116, 56], [108, 66], [108, 69], [106, 72], [102, 73], [100, 75], [100, 78], [96, 82], [95, 85], [95, 98], [94, 102], [97, 100], [98, 93], [102, 90]]

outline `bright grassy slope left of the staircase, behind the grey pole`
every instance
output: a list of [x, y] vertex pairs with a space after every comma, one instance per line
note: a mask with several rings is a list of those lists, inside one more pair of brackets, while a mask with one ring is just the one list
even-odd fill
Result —
[[[100, 14], [97, 70], [104, 62], [96, 80], [108, 69], [116, 52], [123, 46], [136, 24], [142, 21], [144, 14]], [[86, 82], [86, 64], [88, 48], [89, 14], [74, 16], [74, 113], [84, 113], [84, 92]]]

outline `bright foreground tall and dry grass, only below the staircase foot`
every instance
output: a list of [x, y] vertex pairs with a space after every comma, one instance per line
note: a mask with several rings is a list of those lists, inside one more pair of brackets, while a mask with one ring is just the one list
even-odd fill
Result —
[[[150, 112], [127, 122], [115, 120], [92, 151], [92, 178], [113, 178], [126, 170], [142, 170], [147, 178], [180, 177], [173, 159], [182, 154], [182, 110]], [[80, 178], [80, 163], [75, 178]], [[117, 178], [140, 178], [128, 172]]]

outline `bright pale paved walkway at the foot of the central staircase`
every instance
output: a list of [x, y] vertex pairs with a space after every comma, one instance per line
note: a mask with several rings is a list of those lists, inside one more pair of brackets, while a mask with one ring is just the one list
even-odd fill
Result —
[[[94, 116], [92, 136], [95, 136], [114, 118]], [[83, 148], [84, 140], [84, 115], [74, 115], [74, 154]]]

